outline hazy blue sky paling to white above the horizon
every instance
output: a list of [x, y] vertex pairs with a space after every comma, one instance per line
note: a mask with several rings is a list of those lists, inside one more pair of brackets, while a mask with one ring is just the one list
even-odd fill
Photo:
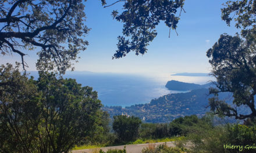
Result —
[[[109, 2], [109, 1], [107, 1]], [[219, 35], [233, 35], [236, 28], [228, 27], [221, 20], [221, 0], [187, 0], [184, 5], [186, 13], [182, 13], [177, 24], [177, 33], [171, 32], [164, 23], [157, 27], [158, 35], [148, 46], [148, 53], [136, 56], [130, 52], [122, 59], [112, 60], [116, 50], [118, 35], [122, 34], [122, 23], [112, 20], [113, 9], [120, 9], [122, 3], [109, 8], [103, 8], [101, 2], [88, 0], [86, 5], [86, 25], [91, 28], [85, 39], [89, 46], [81, 52], [79, 63], [75, 64], [77, 71], [93, 72], [125, 72], [139, 74], [170, 74], [176, 72], [209, 72], [206, 52]], [[11, 60], [20, 61], [17, 54], [0, 57], [0, 64]], [[29, 52], [25, 57], [29, 64], [28, 70], [35, 70], [37, 55]]]

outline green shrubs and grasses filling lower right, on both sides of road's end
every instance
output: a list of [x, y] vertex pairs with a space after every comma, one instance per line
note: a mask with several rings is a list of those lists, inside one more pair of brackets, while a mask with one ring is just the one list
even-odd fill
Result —
[[[248, 119], [243, 125], [214, 126], [214, 119], [214, 115], [208, 114], [202, 118], [196, 115], [185, 116], [170, 123], [142, 123], [138, 130], [137, 141], [150, 142], [151, 139], [182, 136], [182, 139], [173, 139], [176, 141], [174, 148], [166, 145], [157, 147], [152, 144], [144, 148], [142, 152], [255, 152], [256, 146], [253, 142], [256, 140], [256, 125], [254, 122]], [[237, 148], [228, 148], [232, 145], [236, 145]], [[109, 150], [108, 152], [111, 151], [123, 152], [124, 150]]]

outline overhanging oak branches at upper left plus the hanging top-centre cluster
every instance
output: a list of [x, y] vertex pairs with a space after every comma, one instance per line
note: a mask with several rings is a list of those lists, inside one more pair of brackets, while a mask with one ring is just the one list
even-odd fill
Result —
[[[125, 56], [131, 50], [136, 54], [147, 51], [148, 42], [157, 35], [155, 27], [160, 21], [176, 30], [184, 0], [121, 0], [123, 12], [114, 10], [112, 16], [124, 23], [123, 35], [118, 37], [118, 50], [113, 58]], [[23, 69], [27, 67], [24, 50], [41, 48], [37, 53], [38, 70], [58, 70], [64, 73], [72, 67], [77, 54], [86, 50], [88, 42], [84, 40], [90, 30], [84, 21], [82, 0], [4, 0], [0, 1], [0, 50], [1, 54], [17, 53], [21, 56]], [[126, 37], [131, 38], [131, 42]], [[73, 70], [73, 67], [72, 67]]]

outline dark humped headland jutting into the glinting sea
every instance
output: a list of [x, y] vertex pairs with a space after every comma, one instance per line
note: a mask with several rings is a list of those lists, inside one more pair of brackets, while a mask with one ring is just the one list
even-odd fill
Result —
[[214, 86], [213, 83], [198, 85], [195, 83], [186, 83], [186, 82], [180, 82], [175, 80], [168, 81], [165, 85], [165, 87], [169, 90], [179, 90], [179, 91], [187, 91], [187, 90], [202, 89], [202, 88], [208, 89], [210, 86]]

